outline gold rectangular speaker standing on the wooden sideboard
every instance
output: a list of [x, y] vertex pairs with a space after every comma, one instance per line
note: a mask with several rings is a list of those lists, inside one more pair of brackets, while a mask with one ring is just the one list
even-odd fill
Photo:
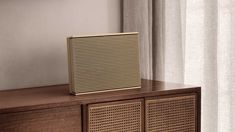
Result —
[[70, 91], [140, 88], [138, 33], [68, 38]]

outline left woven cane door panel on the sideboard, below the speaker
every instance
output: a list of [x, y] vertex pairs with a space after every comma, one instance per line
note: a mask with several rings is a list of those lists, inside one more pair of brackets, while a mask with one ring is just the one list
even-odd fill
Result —
[[142, 100], [88, 106], [89, 132], [141, 132]]

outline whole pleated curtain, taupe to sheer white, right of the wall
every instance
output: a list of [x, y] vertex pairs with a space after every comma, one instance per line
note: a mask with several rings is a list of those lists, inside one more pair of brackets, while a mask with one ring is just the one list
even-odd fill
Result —
[[202, 132], [235, 132], [235, 0], [123, 0], [142, 78], [202, 86]]

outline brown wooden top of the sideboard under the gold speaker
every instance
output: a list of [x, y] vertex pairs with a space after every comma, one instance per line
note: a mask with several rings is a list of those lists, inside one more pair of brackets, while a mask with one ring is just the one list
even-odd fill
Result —
[[68, 84], [5, 90], [0, 91], [0, 113], [197, 91], [200, 87], [145, 79], [142, 79], [141, 88], [138, 89], [78, 96], [69, 94]]

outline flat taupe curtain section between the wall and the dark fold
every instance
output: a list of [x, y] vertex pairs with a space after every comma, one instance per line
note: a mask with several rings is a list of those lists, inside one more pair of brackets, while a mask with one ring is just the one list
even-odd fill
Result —
[[123, 1], [123, 31], [139, 32], [141, 76], [152, 79], [152, 0]]

